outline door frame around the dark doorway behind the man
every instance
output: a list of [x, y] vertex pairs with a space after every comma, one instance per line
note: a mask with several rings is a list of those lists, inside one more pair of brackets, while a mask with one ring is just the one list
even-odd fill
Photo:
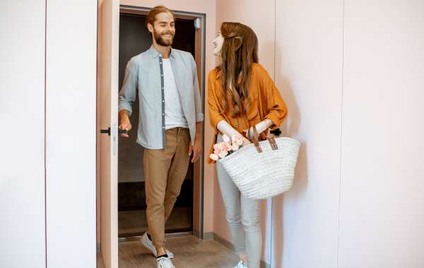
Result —
[[[119, 13], [147, 15], [151, 8], [139, 6], [119, 6]], [[206, 14], [185, 11], [172, 11], [176, 19], [200, 20], [200, 28], [196, 30], [194, 39], [197, 78], [201, 93], [201, 109], [205, 111], [205, 44], [206, 44]], [[193, 178], [193, 230], [192, 234], [199, 239], [204, 238], [204, 122], [201, 123], [201, 156], [194, 163]], [[170, 233], [167, 236], [187, 235], [187, 233]], [[119, 241], [131, 240], [131, 238], [119, 238]]]

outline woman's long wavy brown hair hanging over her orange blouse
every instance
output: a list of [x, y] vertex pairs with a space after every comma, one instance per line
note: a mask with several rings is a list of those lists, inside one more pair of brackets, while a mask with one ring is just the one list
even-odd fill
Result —
[[[221, 102], [226, 111], [229, 90], [232, 95], [232, 116], [237, 117], [249, 110], [249, 82], [252, 63], [258, 62], [258, 39], [254, 31], [242, 23], [223, 23], [220, 32], [224, 37], [218, 67], [222, 83]], [[240, 84], [237, 83], [239, 78]]]

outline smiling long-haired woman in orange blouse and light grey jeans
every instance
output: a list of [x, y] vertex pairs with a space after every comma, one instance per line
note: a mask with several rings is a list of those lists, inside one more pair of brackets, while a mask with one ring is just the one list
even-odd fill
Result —
[[[258, 133], [278, 128], [287, 108], [273, 80], [258, 63], [258, 41], [254, 31], [241, 23], [223, 23], [213, 40], [214, 54], [220, 65], [208, 75], [208, 106], [211, 125], [216, 130], [213, 144], [222, 135], [240, 135], [244, 145], [250, 142], [242, 133]], [[211, 146], [211, 152], [213, 145]], [[209, 159], [209, 163], [213, 163]], [[216, 164], [225, 214], [240, 262], [237, 268], [258, 268], [261, 260], [259, 201], [240, 195], [223, 166]]]

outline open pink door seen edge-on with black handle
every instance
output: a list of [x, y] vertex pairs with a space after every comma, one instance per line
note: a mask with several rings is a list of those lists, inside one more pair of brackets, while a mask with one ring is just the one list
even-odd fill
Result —
[[[98, 89], [98, 173], [100, 248], [106, 268], [118, 267], [117, 119], [119, 0], [99, 1], [100, 88]], [[98, 130], [100, 133], [100, 130]]]

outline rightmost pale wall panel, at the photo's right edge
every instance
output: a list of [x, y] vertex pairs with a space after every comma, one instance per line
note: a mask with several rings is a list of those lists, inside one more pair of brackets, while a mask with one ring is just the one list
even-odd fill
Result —
[[424, 267], [424, 1], [345, 0], [338, 267]]

